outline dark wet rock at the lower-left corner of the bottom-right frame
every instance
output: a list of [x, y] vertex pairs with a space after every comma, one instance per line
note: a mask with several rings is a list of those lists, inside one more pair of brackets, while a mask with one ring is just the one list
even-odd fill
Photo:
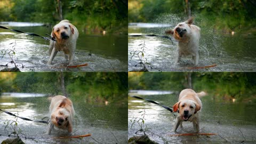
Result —
[[155, 141], [152, 141], [148, 138], [148, 135], [135, 136], [128, 140], [129, 144], [158, 144]]

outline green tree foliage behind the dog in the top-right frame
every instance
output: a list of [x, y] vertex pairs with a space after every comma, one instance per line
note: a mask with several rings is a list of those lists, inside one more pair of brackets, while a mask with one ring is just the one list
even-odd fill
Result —
[[[255, 27], [256, 3], [252, 0], [190, 0], [192, 15], [203, 25], [235, 30]], [[136, 6], [137, 5], [137, 6]], [[180, 0], [129, 0], [129, 22], [150, 22], [161, 14], [186, 15], [186, 3]]]

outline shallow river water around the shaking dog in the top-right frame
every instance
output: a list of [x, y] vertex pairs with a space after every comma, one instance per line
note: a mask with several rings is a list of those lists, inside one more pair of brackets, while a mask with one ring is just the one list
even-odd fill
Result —
[[[134, 51], [142, 51], [149, 71], [255, 71], [256, 41], [254, 36], [216, 33], [214, 30], [201, 28], [199, 41], [199, 63], [197, 67], [217, 65], [210, 69], [190, 69], [195, 67], [191, 56], [182, 57], [180, 65], [174, 66], [178, 43], [172, 38], [145, 36], [156, 34], [165, 36], [164, 31], [174, 28], [180, 20], [168, 21], [170, 25], [160, 23], [130, 23], [128, 27], [129, 71], [138, 71], [142, 65]], [[137, 35], [137, 36], [134, 36]], [[141, 35], [141, 36], [138, 36]], [[167, 36], [167, 35], [166, 35]], [[170, 35], [169, 35], [170, 36]], [[141, 55], [141, 54], [140, 54]], [[133, 58], [132, 58], [133, 56]], [[150, 63], [150, 64], [148, 64]]]

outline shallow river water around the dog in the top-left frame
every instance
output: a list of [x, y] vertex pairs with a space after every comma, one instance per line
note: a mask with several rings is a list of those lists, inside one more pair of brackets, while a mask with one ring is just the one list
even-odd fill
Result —
[[[18, 22], [0, 25], [41, 36], [51, 34], [50, 27], [38, 26], [40, 23], [36, 26], [31, 26], [32, 24]], [[48, 47], [49, 41], [43, 38], [0, 29], [0, 51], [3, 52], [0, 55], [0, 69], [11, 61], [7, 53], [15, 48], [13, 60], [21, 71], [127, 71], [127, 36], [86, 35], [79, 31], [74, 65], [89, 64], [79, 68], [66, 68], [68, 62], [63, 57], [63, 52], [57, 54], [52, 66], [47, 66]], [[25, 68], [21, 68], [20, 63]], [[14, 67], [12, 63], [8, 66]]]

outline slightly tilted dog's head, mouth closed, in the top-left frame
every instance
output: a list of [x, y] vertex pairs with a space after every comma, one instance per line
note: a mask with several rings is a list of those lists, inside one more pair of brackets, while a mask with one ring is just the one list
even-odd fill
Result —
[[56, 38], [57, 41], [65, 41], [69, 39], [72, 34], [74, 34], [74, 28], [73, 25], [70, 25], [68, 20], [62, 20], [52, 29], [52, 37]]

